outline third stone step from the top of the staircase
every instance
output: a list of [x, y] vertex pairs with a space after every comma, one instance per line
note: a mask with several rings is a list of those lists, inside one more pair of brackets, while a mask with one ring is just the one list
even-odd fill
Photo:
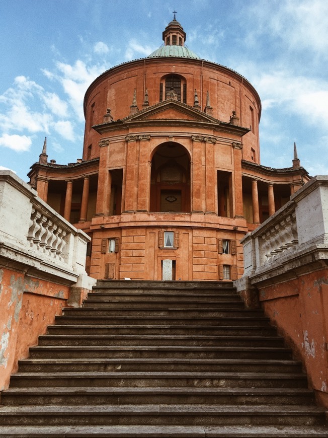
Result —
[[134, 293], [131, 290], [118, 290], [118, 291], [109, 291], [108, 289], [104, 289], [103, 291], [97, 291], [97, 292], [91, 292], [88, 294], [87, 302], [89, 300], [97, 300], [97, 301], [130, 301], [130, 300], [137, 300], [137, 301], [172, 301], [176, 303], [183, 303], [185, 304], [187, 301], [231, 301], [231, 302], [242, 302], [239, 295], [227, 293], [222, 294], [221, 291], [219, 294], [190, 294], [185, 293], [182, 294], [181, 292], [172, 292], [171, 294], [168, 294], [167, 291], [161, 292], [157, 291], [157, 293], [153, 293], [153, 291], [140, 291], [139, 289], [134, 291]]

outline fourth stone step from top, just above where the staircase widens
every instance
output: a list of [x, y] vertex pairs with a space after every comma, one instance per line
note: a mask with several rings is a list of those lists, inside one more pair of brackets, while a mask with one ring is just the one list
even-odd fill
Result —
[[[88, 299], [84, 302], [83, 307], [85, 309], [122, 309], [122, 308], [134, 308], [134, 309], [176, 309], [177, 306], [181, 306], [182, 303], [178, 301], [162, 301], [162, 300], [95, 300]], [[244, 304], [242, 301], [191, 301], [186, 300], [183, 303], [184, 310], [186, 309], [243, 309]]]

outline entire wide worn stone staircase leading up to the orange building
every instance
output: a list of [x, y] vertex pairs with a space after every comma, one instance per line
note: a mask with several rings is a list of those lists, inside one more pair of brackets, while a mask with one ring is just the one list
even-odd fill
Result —
[[98, 281], [19, 362], [0, 437], [328, 437], [301, 364], [230, 282]]

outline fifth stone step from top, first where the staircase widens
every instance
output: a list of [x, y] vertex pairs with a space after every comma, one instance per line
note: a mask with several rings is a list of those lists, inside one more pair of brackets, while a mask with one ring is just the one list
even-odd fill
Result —
[[176, 308], [142, 308], [135, 309], [133, 307], [121, 307], [116, 309], [103, 309], [95, 308], [95, 307], [65, 307], [63, 308], [63, 315], [65, 316], [95, 316], [98, 317], [153, 317], [157, 318], [160, 316], [167, 317], [191, 317], [191, 318], [200, 318], [200, 317], [212, 317], [212, 318], [227, 318], [227, 317], [239, 317], [243, 319], [248, 318], [260, 318], [263, 316], [263, 312], [260, 309], [212, 309], [212, 308], [204, 308], [204, 309], [183, 309], [182, 306], [177, 306]]

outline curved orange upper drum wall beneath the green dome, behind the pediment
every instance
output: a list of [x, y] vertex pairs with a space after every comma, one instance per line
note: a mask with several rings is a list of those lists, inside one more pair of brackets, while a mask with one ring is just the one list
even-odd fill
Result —
[[[252, 85], [226, 67], [198, 59], [145, 58], [119, 65], [105, 72], [88, 89], [85, 97], [86, 131], [84, 159], [99, 157], [101, 135], [92, 126], [104, 123], [107, 108], [114, 120], [130, 114], [136, 90], [138, 110], [145, 108], [145, 90], [152, 106], [165, 100], [165, 88], [160, 96], [160, 83], [167, 75], [177, 75], [186, 84], [186, 103], [193, 107], [195, 90], [200, 111], [204, 111], [209, 92], [211, 115], [229, 122], [232, 111], [239, 118], [236, 124], [250, 129], [243, 136], [242, 158], [260, 163], [259, 118], [261, 101]], [[181, 98], [183, 101], [183, 98]]]

